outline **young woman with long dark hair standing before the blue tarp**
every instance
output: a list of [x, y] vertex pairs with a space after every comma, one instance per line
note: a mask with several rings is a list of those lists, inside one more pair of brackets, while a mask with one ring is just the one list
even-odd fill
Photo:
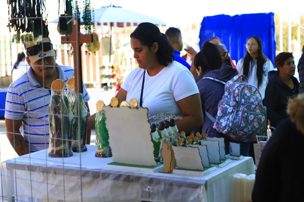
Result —
[[251, 86], [259, 89], [262, 99], [268, 83], [268, 72], [274, 70], [272, 62], [263, 53], [262, 40], [251, 36], [247, 40], [245, 56], [237, 62], [237, 71], [248, 78]]

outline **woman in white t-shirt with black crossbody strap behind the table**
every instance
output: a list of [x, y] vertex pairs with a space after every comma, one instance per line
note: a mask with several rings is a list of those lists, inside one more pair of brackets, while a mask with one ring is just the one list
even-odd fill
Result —
[[174, 61], [174, 49], [166, 35], [156, 25], [144, 22], [130, 38], [139, 67], [123, 82], [116, 95], [119, 101], [129, 102], [135, 98], [141, 103], [142, 100], [142, 107], [149, 109], [150, 124], [173, 118], [178, 130], [185, 133], [202, 125], [202, 106], [195, 79], [185, 66]]

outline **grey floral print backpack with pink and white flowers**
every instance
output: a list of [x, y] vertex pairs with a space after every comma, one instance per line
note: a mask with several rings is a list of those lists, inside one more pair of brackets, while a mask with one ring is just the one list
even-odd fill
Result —
[[[243, 77], [242, 80], [238, 80]], [[243, 74], [238, 74], [228, 82], [212, 79], [225, 85], [225, 93], [219, 101], [216, 118], [205, 113], [214, 121], [213, 128], [230, 139], [251, 142], [256, 136], [265, 136], [267, 131], [266, 107], [262, 104], [259, 90], [248, 84]]]

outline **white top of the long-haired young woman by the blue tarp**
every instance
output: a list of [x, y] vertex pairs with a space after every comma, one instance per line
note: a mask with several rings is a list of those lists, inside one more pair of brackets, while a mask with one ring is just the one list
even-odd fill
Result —
[[[243, 74], [243, 58], [240, 59], [237, 62], [237, 71], [240, 74]], [[264, 99], [265, 97], [265, 89], [268, 83], [268, 72], [275, 70], [274, 66], [272, 65], [272, 62], [270, 61], [270, 59], [267, 59], [266, 62], [264, 63], [263, 66], [263, 80], [260, 86], [257, 86], [257, 59], [253, 59], [253, 62], [250, 62], [250, 68], [249, 68], [249, 73], [248, 73], [248, 83], [251, 86], [256, 87], [257, 89], [259, 89], [262, 99]]]

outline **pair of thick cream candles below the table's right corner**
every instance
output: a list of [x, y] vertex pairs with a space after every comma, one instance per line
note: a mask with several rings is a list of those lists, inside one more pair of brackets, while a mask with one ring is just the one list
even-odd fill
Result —
[[232, 202], [251, 201], [251, 193], [254, 186], [255, 175], [235, 173], [232, 176]]

